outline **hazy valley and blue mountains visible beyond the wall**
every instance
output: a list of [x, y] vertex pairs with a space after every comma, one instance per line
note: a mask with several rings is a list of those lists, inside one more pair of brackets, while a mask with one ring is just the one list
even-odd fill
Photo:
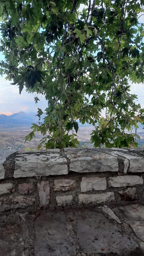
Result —
[[[32, 116], [35, 113], [31, 113]], [[30, 119], [30, 114], [24, 112], [15, 113], [10, 118], [5, 117], [4, 114], [0, 115], [0, 149], [10, 150], [15, 152], [17, 150], [35, 149], [40, 143], [42, 138], [41, 134], [36, 134], [33, 140], [25, 142], [25, 136], [28, 135], [31, 130], [31, 123], [38, 121], [36, 117]], [[78, 121], [79, 122], [79, 121]], [[141, 137], [137, 140], [139, 146], [144, 146], [144, 130], [143, 126], [139, 125], [137, 134]], [[85, 123], [82, 125], [79, 122], [79, 130], [77, 132], [78, 140], [81, 147], [93, 146], [90, 141], [91, 132], [94, 128], [92, 125]], [[132, 131], [135, 133], [135, 129]]]

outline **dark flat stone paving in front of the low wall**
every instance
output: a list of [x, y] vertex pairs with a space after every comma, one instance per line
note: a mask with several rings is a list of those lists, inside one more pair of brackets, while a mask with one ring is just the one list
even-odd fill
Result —
[[144, 206], [1, 212], [1, 256], [142, 256]]

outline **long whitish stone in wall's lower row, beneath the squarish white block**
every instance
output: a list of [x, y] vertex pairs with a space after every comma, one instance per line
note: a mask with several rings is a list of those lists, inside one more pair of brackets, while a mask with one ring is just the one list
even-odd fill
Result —
[[79, 194], [79, 203], [105, 203], [115, 200], [113, 192], [105, 192], [101, 194]]

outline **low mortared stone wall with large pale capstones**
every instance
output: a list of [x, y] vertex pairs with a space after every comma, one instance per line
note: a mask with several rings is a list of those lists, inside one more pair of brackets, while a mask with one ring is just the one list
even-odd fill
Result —
[[144, 149], [0, 152], [0, 211], [143, 203]]

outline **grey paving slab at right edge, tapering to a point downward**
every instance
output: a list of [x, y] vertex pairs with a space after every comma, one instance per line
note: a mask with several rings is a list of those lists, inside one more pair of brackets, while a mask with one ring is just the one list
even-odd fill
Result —
[[119, 207], [119, 210], [125, 216], [136, 236], [144, 242], [144, 205], [126, 205]]

